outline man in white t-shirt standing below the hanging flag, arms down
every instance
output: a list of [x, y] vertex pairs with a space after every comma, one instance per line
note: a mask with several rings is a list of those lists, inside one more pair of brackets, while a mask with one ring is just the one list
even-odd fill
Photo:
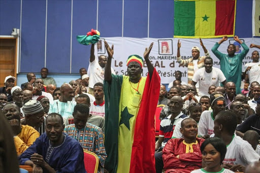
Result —
[[213, 59], [206, 57], [204, 59], [204, 66], [194, 73], [191, 85], [196, 85], [199, 82], [199, 96], [207, 95], [211, 85], [219, 86], [219, 82], [223, 85], [226, 83], [224, 74], [219, 68], [212, 67]]

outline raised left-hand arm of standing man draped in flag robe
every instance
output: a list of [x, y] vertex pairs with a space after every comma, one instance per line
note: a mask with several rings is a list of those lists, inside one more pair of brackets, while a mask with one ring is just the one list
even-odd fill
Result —
[[105, 47], [107, 49], [108, 52], [108, 60], [105, 66], [105, 74], [104, 74], [104, 79], [108, 82], [110, 82], [112, 80], [112, 75], [111, 75], [111, 60], [114, 54], [114, 45], [112, 45], [112, 47], [110, 48], [108, 43], [106, 41], [104, 41], [105, 43]]

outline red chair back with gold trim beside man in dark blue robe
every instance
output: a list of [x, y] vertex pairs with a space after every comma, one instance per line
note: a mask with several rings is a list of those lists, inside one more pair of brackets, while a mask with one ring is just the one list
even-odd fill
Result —
[[99, 158], [90, 151], [83, 149], [84, 151], [84, 165], [85, 169], [88, 173], [96, 173], [98, 172], [99, 167]]

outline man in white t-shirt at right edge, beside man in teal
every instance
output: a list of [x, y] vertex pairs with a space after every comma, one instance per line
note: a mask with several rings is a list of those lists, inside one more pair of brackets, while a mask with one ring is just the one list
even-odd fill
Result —
[[[251, 44], [253, 45], [253, 44]], [[251, 47], [250, 45], [250, 47]], [[254, 45], [257, 46], [257, 45]], [[260, 83], [260, 62], [259, 62], [259, 53], [257, 51], [253, 51], [252, 53], [253, 62], [246, 63], [244, 66], [244, 72], [242, 78], [245, 78], [245, 75], [248, 74], [249, 83], [253, 81], [257, 81]]]

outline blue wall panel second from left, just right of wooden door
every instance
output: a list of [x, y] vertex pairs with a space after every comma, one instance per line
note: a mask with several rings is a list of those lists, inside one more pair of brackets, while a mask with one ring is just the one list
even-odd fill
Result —
[[22, 73], [40, 72], [44, 67], [45, 14], [45, 1], [22, 1], [20, 67]]

